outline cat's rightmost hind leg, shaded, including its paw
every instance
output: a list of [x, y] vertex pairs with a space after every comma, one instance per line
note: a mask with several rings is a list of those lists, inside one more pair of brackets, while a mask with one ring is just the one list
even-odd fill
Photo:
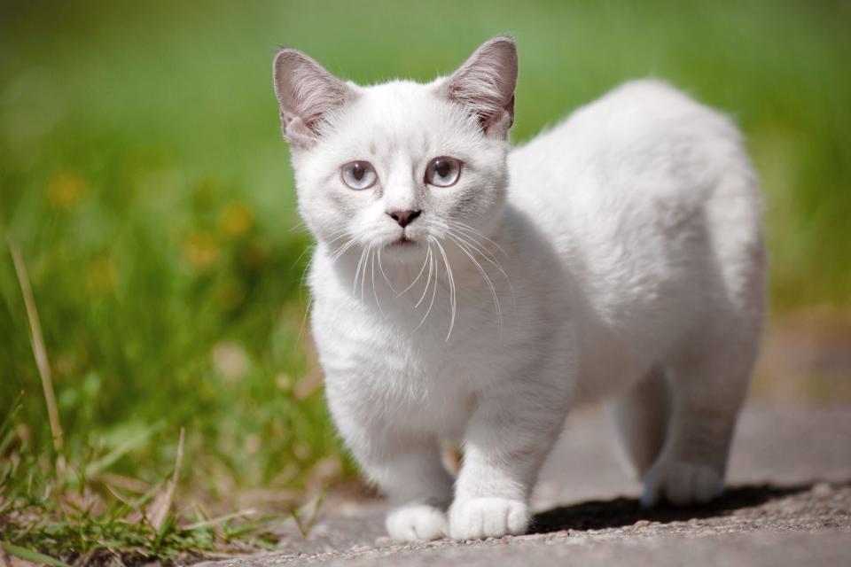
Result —
[[686, 506], [722, 492], [757, 351], [756, 333], [736, 331], [695, 341], [669, 362], [668, 432], [659, 458], [644, 474], [645, 505], [666, 500]]

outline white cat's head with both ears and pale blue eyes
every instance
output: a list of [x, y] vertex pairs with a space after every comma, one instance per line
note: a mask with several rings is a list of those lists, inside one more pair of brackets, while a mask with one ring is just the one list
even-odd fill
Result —
[[504, 206], [517, 50], [496, 37], [449, 77], [362, 87], [282, 49], [275, 92], [301, 216], [332, 250], [398, 260], [433, 239], [485, 234]]

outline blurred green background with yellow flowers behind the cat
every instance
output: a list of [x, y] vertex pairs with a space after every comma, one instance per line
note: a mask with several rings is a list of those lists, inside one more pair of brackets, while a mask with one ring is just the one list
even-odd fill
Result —
[[[0, 420], [50, 454], [28, 269], [69, 462], [207, 501], [298, 500], [353, 471], [305, 321], [309, 236], [272, 92], [278, 45], [355, 82], [519, 44], [515, 142], [629, 78], [746, 132], [772, 315], [754, 396], [851, 400], [851, 3], [0, 4]], [[82, 465], [81, 465], [82, 466]], [[144, 485], [143, 485], [144, 486]]]

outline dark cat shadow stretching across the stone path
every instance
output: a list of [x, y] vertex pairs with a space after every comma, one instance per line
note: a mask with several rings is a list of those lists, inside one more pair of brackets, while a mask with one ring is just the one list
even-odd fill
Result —
[[663, 505], [647, 509], [642, 507], [638, 499], [625, 497], [607, 501], [587, 501], [570, 506], [560, 506], [536, 514], [530, 532], [602, 530], [632, 525], [640, 520], [668, 524], [693, 518], [723, 517], [738, 509], [759, 506], [778, 498], [808, 492], [812, 486], [812, 484], [808, 484], [729, 487], [722, 496], [712, 502], [686, 508]]

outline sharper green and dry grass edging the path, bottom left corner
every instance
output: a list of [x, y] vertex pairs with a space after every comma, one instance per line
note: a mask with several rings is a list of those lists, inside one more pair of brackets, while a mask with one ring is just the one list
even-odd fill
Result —
[[0, 464], [0, 553], [32, 563], [191, 563], [274, 548], [275, 527], [293, 521], [307, 536], [322, 503], [320, 493], [304, 512], [244, 510], [211, 517], [199, 501], [176, 499], [183, 434], [168, 478], [141, 493], [99, 478], [102, 462], [75, 468], [63, 458], [51, 461], [33, 452], [13, 429], [19, 411], [20, 399], [0, 424], [0, 451], [6, 456]]

